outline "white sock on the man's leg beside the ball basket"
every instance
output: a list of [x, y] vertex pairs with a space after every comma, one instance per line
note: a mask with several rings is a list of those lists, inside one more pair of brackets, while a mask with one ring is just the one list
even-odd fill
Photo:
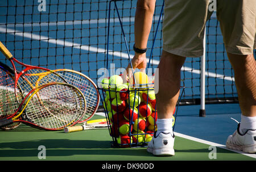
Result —
[[156, 136], [158, 136], [160, 132], [172, 133], [172, 118], [158, 119], [156, 125], [158, 125]]

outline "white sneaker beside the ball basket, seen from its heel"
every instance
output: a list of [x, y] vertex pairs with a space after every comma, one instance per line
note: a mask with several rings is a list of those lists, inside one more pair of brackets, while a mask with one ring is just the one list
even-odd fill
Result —
[[156, 137], [156, 132], [152, 140], [148, 143], [147, 152], [155, 156], [174, 156], [174, 133], [159, 133]]

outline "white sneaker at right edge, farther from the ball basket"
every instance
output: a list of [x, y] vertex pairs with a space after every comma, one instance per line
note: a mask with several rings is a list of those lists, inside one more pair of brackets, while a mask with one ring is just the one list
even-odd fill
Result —
[[256, 130], [248, 129], [243, 135], [237, 130], [226, 140], [226, 147], [234, 150], [242, 150], [245, 153], [256, 153]]

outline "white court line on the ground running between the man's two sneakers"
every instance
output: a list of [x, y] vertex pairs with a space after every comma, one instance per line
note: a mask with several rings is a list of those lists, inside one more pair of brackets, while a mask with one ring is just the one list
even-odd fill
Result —
[[226, 148], [225, 145], [222, 145], [222, 144], [217, 144], [217, 143], [215, 143], [215, 142], [211, 142], [211, 141], [207, 141], [207, 140], [203, 140], [203, 139], [198, 139], [198, 138], [196, 138], [196, 137], [192, 137], [192, 136], [188, 136], [188, 135], [183, 135], [183, 134], [177, 133], [177, 132], [174, 132], [174, 134], [175, 134], [176, 136], [178, 136], [178, 137], [183, 137], [184, 139], [188, 139], [188, 140], [192, 140], [192, 141], [201, 142], [201, 143], [203, 143], [203, 144], [216, 146], [216, 147], [218, 147], [218, 148], [230, 150], [230, 151], [232, 151], [232, 152], [240, 153], [240, 154], [243, 154], [243, 155], [248, 156], [248, 157], [256, 158], [256, 154], [244, 153], [244, 152], [242, 152], [242, 151], [240, 151], [240, 150], [228, 149], [228, 148]]

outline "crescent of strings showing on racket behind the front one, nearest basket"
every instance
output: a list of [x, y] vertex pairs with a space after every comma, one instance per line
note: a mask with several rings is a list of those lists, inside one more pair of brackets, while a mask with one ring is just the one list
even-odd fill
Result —
[[89, 118], [98, 106], [98, 92], [96, 87], [87, 78], [75, 72], [59, 71], [57, 73], [59, 73], [68, 83], [80, 89], [82, 94], [84, 94], [86, 99], [86, 114], [82, 120]]

